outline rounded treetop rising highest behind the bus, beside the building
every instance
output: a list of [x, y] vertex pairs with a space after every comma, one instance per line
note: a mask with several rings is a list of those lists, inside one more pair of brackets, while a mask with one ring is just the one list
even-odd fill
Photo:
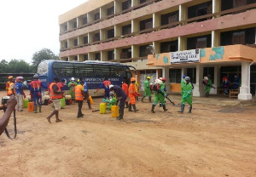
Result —
[[60, 60], [50, 49], [41, 49], [32, 56], [32, 66], [38, 67], [42, 60]]

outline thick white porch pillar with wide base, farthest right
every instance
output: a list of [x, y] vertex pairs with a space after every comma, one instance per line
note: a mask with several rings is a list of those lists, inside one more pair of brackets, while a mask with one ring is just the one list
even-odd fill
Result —
[[250, 90], [250, 63], [241, 63], [241, 87], [238, 100], [251, 100], [252, 94]]

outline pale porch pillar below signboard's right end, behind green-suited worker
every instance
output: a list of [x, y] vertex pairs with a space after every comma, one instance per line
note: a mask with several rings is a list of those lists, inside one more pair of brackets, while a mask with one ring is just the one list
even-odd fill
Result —
[[200, 64], [196, 65], [196, 83], [194, 85], [193, 96], [203, 96], [204, 95], [204, 87], [201, 83], [203, 78], [203, 66]]

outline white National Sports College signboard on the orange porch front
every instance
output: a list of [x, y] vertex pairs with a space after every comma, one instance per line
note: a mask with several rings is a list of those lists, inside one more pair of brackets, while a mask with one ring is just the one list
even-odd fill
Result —
[[200, 49], [171, 52], [171, 64], [200, 62]]

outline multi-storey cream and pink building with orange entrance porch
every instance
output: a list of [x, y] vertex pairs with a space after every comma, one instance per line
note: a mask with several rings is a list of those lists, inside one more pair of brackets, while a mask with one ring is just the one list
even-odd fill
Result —
[[248, 100], [256, 85], [255, 17], [256, 0], [90, 0], [59, 16], [60, 57], [127, 63], [139, 83], [169, 78], [168, 92], [179, 92], [186, 74], [195, 96], [203, 76], [219, 88], [222, 77], [231, 83], [236, 75], [238, 98]]

